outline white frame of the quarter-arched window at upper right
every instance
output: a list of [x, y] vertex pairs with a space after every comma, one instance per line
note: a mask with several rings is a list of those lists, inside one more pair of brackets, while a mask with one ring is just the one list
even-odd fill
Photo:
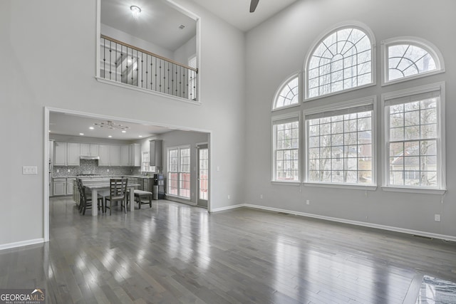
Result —
[[[430, 70], [423, 73], [418, 73], [415, 75], [411, 75], [408, 77], [398, 78], [395, 80], [389, 80], [389, 62], [388, 62], [388, 47], [400, 45], [400, 44], [410, 44], [412, 46], [418, 46], [419, 48], [423, 48], [423, 50], [427, 51], [427, 53], [432, 56], [432, 59], [435, 61], [435, 70]], [[382, 58], [382, 65], [381, 65], [381, 73], [382, 73], [382, 86], [385, 85], [392, 85], [394, 83], [402, 83], [404, 81], [413, 80], [417, 78], [423, 78], [430, 75], [440, 74], [445, 72], [445, 63], [443, 61], [442, 53], [440, 50], [429, 41], [426, 41], [423, 38], [413, 37], [413, 36], [403, 36], [403, 37], [395, 37], [386, 39], [381, 41], [381, 58]]]

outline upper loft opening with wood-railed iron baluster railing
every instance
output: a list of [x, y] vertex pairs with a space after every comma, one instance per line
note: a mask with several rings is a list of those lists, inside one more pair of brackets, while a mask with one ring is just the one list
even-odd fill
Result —
[[160, 0], [99, 1], [97, 78], [198, 102], [196, 17]]

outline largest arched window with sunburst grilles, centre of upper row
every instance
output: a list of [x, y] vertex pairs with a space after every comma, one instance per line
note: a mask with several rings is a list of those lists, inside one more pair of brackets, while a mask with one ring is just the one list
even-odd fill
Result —
[[374, 83], [375, 41], [361, 26], [330, 31], [306, 60], [306, 99]]

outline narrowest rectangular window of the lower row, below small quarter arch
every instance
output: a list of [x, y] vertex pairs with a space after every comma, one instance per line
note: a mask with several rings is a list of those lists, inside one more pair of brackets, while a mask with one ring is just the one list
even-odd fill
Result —
[[299, 117], [273, 121], [273, 180], [299, 181]]

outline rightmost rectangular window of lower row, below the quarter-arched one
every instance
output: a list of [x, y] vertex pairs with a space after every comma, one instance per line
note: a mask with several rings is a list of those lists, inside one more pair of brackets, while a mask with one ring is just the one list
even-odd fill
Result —
[[387, 187], [445, 189], [443, 87], [383, 95]]

